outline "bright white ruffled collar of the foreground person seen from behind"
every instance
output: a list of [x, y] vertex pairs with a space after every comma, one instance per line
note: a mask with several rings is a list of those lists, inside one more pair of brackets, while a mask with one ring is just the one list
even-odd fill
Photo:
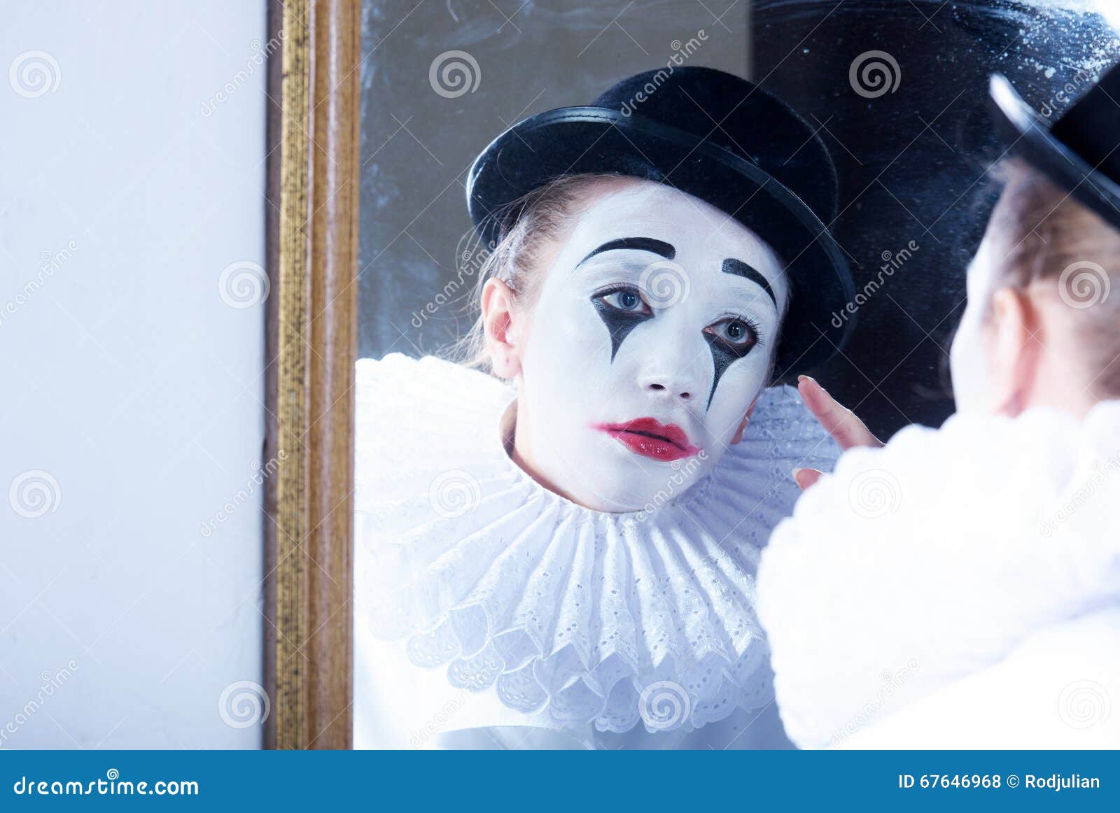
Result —
[[1118, 505], [1120, 401], [1083, 421], [956, 414], [846, 452], [758, 573], [786, 732], [843, 745], [1035, 632], [1116, 606]]

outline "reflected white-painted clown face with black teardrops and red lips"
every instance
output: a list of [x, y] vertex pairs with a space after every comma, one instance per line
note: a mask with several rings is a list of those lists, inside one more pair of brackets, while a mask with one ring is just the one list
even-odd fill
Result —
[[612, 187], [579, 216], [533, 306], [520, 457], [598, 511], [680, 494], [765, 386], [786, 296], [774, 252], [720, 209], [651, 181]]

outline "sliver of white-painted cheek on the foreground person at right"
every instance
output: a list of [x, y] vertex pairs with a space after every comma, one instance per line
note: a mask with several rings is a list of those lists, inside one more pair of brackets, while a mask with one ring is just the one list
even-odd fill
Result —
[[950, 375], [953, 379], [953, 398], [958, 412], [990, 412], [995, 406], [995, 393], [988, 371], [988, 353], [984, 338], [986, 314], [991, 296], [991, 278], [995, 252], [991, 237], [984, 235], [977, 249], [977, 255], [969, 265], [967, 293], [968, 305], [961, 315], [961, 324], [953, 336], [949, 353]]

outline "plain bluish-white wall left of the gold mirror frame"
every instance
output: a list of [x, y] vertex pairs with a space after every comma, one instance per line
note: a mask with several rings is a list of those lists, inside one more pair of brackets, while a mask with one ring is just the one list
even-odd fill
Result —
[[0, 747], [258, 747], [265, 3], [3, 16]]

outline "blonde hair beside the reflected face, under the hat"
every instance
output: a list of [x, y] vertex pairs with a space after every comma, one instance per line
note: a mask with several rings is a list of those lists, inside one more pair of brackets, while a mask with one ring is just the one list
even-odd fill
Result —
[[589, 193], [626, 178], [613, 172], [563, 176], [491, 215], [494, 221], [505, 224], [496, 243], [489, 247], [482, 246], [480, 239], [475, 236], [473, 244], [463, 252], [463, 256], [473, 256], [476, 251], [488, 251], [478, 268], [467, 303], [474, 317], [473, 325], [445, 354], [450, 361], [489, 370], [482, 317], [482, 295], [486, 283], [492, 279], [501, 280], [513, 292], [519, 306], [531, 305], [540, 292], [549, 250], [567, 237], [576, 215], [590, 205], [594, 196]]

